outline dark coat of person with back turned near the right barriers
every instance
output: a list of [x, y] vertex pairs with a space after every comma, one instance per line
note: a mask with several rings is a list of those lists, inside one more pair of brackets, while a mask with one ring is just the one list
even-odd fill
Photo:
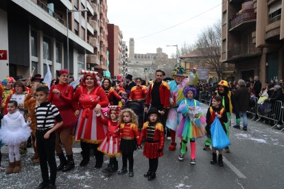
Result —
[[235, 91], [234, 99], [237, 110], [240, 112], [245, 112], [249, 109], [250, 93], [248, 92], [248, 88], [245, 86], [240, 86]]

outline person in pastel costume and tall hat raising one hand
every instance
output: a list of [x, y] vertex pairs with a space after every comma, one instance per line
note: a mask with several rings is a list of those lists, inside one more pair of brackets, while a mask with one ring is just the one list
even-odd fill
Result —
[[[166, 127], [169, 129], [169, 132], [171, 134], [171, 144], [169, 144], [170, 151], [176, 150], [176, 131], [178, 124], [180, 123], [180, 120], [182, 118], [181, 114], [178, 114], [177, 109], [178, 105], [180, 105], [180, 102], [185, 99], [182, 90], [186, 86], [193, 84], [194, 79], [193, 77], [193, 79], [191, 78], [190, 81], [189, 77], [185, 78], [185, 69], [180, 65], [177, 65], [172, 73], [174, 80], [169, 81], [168, 83], [170, 92], [170, 108], [166, 122]], [[192, 75], [192, 73], [190, 73], [190, 75]], [[194, 75], [196, 75], [196, 73], [193, 73], [193, 76]]]

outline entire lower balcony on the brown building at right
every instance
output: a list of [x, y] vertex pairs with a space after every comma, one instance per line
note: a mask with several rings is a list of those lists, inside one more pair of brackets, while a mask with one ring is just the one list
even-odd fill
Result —
[[240, 62], [261, 55], [261, 49], [255, 44], [238, 45], [235, 49], [228, 49], [228, 60], [225, 62]]

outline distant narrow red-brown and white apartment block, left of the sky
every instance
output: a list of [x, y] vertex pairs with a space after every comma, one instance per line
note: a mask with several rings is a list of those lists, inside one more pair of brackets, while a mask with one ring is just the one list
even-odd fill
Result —
[[111, 76], [121, 75], [123, 72], [123, 35], [119, 26], [108, 24], [108, 51], [110, 64], [108, 69]]

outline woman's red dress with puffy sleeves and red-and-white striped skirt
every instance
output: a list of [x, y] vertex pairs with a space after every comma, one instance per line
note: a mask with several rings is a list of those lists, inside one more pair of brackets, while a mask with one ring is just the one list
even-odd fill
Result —
[[[97, 114], [95, 106], [99, 103], [102, 108], [108, 106], [108, 97], [104, 90], [97, 86], [88, 93], [86, 87], [77, 88], [74, 94], [75, 110], [80, 108], [80, 115], [75, 131], [75, 141], [81, 140], [91, 144], [99, 144], [106, 138], [106, 125], [104, 126]], [[79, 107], [78, 107], [79, 106]], [[102, 115], [102, 118], [104, 115]]]

